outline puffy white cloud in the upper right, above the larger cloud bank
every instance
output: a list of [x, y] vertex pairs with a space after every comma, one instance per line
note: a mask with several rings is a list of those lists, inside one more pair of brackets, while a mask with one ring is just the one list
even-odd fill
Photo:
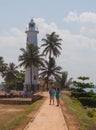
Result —
[[75, 23], [75, 26], [79, 26], [79, 32], [82, 35], [96, 39], [96, 12], [77, 14], [76, 11], [71, 11], [67, 17], [64, 17], [63, 21], [70, 24]]

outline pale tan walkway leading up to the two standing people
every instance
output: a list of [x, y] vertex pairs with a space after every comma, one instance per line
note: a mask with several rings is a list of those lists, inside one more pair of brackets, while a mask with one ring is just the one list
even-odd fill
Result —
[[68, 130], [62, 114], [61, 107], [49, 105], [48, 92], [44, 104], [41, 106], [35, 119], [24, 130]]

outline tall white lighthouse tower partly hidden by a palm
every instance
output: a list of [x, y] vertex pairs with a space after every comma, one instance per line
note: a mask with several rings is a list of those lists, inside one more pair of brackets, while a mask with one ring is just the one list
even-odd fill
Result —
[[[35, 22], [33, 19], [31, 19], [31, 21], [29, 22], [28, 28], [25, 31], [25, 33], [27, 34], [26, 46], [27, 44], [34, 44], [35, 46], [37, 46], [37, 34], [39, 32], [35, 26]], [[32, 85], [35, 91], [38, 87], [38, 68], [34, 66], [32, 66]], [[30, 92], [31, 90], [30, 68], [26, 68], [25, 70], [24, 86], [27, 89], [27, 91]]]

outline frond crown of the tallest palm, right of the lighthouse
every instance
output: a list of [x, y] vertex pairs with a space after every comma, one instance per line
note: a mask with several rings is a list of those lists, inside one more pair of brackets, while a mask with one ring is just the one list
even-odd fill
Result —
[[44, 41], [44, 44], [41, 45], [41, 47], [45, 47], [43, 50], [43, 54], [46, 56], [49, 53], [49, 58], [53, 56], [57, 57], [61, 53], [59, 49], [61, 48], [62, 39], [59, 38], [59, 35], [57, 35], [55, 32], [52, 32], [51, 34], [46, 34], [46, 39], [42, 39]]

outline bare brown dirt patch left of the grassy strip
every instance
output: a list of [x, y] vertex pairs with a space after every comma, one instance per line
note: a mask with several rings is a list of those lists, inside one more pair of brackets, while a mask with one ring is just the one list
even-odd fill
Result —
[[14, 118], [18, 114], [23, 112], [27, 107], [28, 107], [28, 105], [4, 105], [4, 104], [0, 104], [0, 130], [3, 130], [4, 126], [7, 123], [14, 120]]

